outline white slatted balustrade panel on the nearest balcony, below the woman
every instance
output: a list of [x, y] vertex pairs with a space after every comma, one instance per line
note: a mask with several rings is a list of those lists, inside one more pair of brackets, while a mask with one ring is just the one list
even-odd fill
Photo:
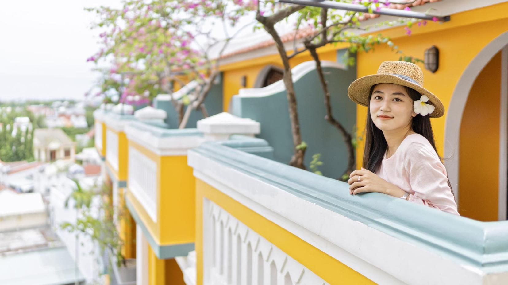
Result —
[[203, 213], [204, 284], [328, 284], [207, 199]]

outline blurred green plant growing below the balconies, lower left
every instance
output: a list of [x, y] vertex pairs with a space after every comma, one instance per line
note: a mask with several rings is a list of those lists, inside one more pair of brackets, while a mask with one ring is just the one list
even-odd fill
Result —
[[[60, 229], [70, 233], [83, 234], [88, 236], [93, 242], [97, 242], [101, 250], [109, 250], [116, 256], [117, 266], [125, 264], [125, 258], [121, 254], [123, 241], [118, 233], [115, 220], [112, 213], [116, 210], [118, 217], [124, 218], [124, 209], [114, 209], [109, 197], [111, 196], [112, 186], [104, 184], [98, 191], [95, 188], [83, 189], [77, 180], [76, 188], [66, 200], [65, 206], [69, 206], [69, 201], [73, 200], [74, 208], [79, 212], [75, 223], [62, 222]], [[93, 205], [93, 198], [100, 197], [99, 205]]]

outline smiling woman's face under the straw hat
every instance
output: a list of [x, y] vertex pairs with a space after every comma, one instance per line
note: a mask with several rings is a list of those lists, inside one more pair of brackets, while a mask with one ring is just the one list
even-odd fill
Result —
[[417, 115], [413, 110], [412, 99], [399, 84], [377, 84], [372, 90], [369, 104], [370, 117], [382, 131], [404, 129], [410, 124], [411, 117]]

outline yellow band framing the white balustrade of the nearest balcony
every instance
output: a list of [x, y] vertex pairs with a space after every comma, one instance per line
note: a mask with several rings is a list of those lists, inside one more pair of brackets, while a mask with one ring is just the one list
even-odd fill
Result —
[[330, 255], [308, 244], [276, 223], [243, 206], [230, 196], [218, 191], [205, 182], [196, 180], [196, 254], [197, 284], [203, 284], [203, 197], [213, 201], [240, 220], [251, 230], [291, 255], [328, 283], [373, 284], [367, 277], [345, 266]]

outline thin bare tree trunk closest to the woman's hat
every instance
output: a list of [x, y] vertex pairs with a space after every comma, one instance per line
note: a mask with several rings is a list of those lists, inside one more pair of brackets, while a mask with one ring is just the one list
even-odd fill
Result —
[[[336, 127], [342, 136], [344, 137], [344, 143], [346, 145], [347, 150], [347, 169], [344, 174], [350, 174], [353, 170], [356, 169], [356, 161], [355, 161], [355, 148], [353, 147], [353, 142], [351, 140], [352, 136], [347, 130], [340, 124], [332, 114], [332, 105], [330, 102], [330, 91], [328, 90], [328, 83], [325, 80], [325, 75], [323, 73], [323, 68], [321, 67], [321, 60], [319, 59], [319, 55], [316, 52], [315, 47], [311, 46], [311, 44], [306, 44], [310, 55], [314, 59], [316, 63], [316, 71], [321, 82], [321, 87], [323, 88], [323, 92], [325, 93], [325, 108], [326, 108], [326, 116], [325, 120], [327, 120], [330, 124]], [[342, 180], [342, 175], [339, 177], [339, 180]]]

